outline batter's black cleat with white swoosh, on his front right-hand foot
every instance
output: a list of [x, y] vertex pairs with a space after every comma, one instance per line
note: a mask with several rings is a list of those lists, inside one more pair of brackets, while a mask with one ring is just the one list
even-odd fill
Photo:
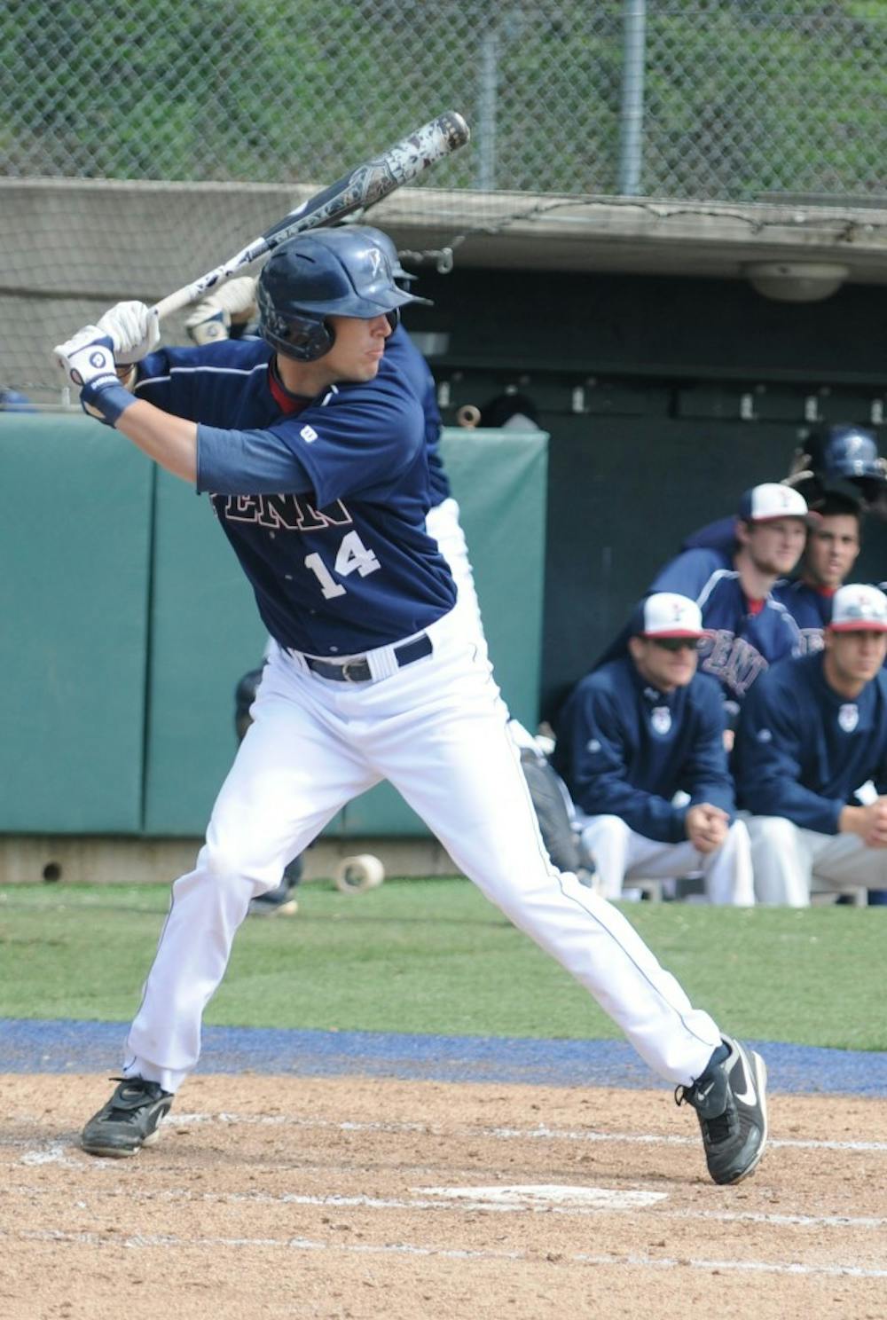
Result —
[[767, 1144], [767, 1067], [730, 1036], [723, 1045], [726, 1057], [710, 1063], [692, 1086], [678, 1086], [674, 1100], [696, 1110], [714, 1181], [740, 1183], [758, 1168]]

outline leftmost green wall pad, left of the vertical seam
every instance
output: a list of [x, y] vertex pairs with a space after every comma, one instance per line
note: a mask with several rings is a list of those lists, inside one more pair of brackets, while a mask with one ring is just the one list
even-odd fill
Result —
[[0, 829], [141, 826], [154, 470], [83, 416], [0, 416]]

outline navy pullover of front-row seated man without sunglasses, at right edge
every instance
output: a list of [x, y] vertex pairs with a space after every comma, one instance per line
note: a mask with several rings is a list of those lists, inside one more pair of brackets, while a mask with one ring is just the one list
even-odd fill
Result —
[[742, 708], [731, 764], [740, 807], [837, 834], [857, 788], [887, 791], [887, 676], [849, 701], [826, 682], [822, 652], [773, 665]]

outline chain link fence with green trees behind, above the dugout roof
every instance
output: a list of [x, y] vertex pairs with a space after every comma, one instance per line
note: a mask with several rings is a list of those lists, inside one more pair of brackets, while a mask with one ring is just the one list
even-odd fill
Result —
[[437, 189], [870, 197], [886, 54], [871, 0], [7, 0], [0, 174], [329, 181], [455, 108]]

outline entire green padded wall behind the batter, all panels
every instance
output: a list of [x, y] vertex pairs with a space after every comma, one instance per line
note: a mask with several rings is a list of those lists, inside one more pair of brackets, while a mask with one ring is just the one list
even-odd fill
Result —
[[[546, 437], [447, 432], [500, 685], [536, 718]], [[0, 416], [0, 830], [202, 834], [265, 644], [206, 499], [81, 416]], [[389, 788], [329, 832], [425, 833]]]

